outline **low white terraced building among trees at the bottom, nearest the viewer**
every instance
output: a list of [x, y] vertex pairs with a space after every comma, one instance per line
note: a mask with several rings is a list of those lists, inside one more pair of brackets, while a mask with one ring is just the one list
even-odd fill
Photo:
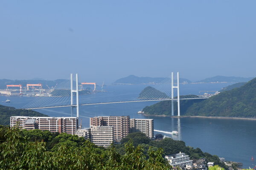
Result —
[[192, 165], [192, 160], [185, 153], [176, 153], [172, 155], [166, 155], [165, 158], [169, 161], [169, 164], [174, 167], [184, 168], [186, 165]]

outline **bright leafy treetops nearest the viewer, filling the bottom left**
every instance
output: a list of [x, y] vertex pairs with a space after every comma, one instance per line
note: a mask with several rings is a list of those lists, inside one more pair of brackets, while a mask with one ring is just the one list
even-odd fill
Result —
[[[0, 127], [0, 169], [2, 170], [169, 170], [162, 157], [163, 149], [149, 147], [146, 159], [143, 147], [125, 144], [125, 154], [96, 147], [89, 141], [73, 146], [62, 141], [58, 148], [47, 150], [47, 142], [32, 142], [17, 127]], [[67, 136], [66, 136], [67, 137]], [[75, 138], [78, 138], [77, 136]], [[61, 140], [60, 139], [60, 140]], [[29, 141], [30, 140], [30, 141]], [[76, 140], [76, 139], [70, 139]], [[61, 143], [59, 141], [59, 143]], [[58, 144], [59, 144], [58, 143]], [[55, 145], [56, 146], [56, 145]]]

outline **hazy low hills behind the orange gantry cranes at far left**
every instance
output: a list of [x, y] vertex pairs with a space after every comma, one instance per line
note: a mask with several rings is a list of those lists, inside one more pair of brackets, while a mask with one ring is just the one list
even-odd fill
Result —
[[55, 85], [65, 81], [65, 79], [56, 79], [56, 80], [10, 80], [10, 79], [0, 79], [0, 89], [5, 89], [6, 85], [19, 85], [21, 84], [23, 87], [26, 86], [26, 84], [38, 84], [41, 83], [43, 85], [43, 88], [49, 88], [54, 87]]

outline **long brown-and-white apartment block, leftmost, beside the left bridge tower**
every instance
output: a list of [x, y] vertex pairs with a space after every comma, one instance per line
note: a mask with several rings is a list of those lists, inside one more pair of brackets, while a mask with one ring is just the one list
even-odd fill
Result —
[[40, 129], [50, 132], [67, 133], [74, 135], [78, 129], [77, 117], [30, 117], [30, 116], [12, 116], [10, 125], [14, 127], [19, 122], [21, 129]]

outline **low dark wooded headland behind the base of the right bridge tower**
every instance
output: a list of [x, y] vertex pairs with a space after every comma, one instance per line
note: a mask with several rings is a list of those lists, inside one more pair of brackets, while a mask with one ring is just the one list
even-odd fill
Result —
[[[180, 98], [198, 98], [196, 95], [180, 96]], [[186, 110], [194, 103], [205, 99], [180, 100], [180, 113], [186, 113]], [[172, 101], [162, 101], [151, 106], [146, 106], [143, 111], [148, 115], [172, 115]], [[174, 102], [174, 113], [177, 115], [177, 102]]]

